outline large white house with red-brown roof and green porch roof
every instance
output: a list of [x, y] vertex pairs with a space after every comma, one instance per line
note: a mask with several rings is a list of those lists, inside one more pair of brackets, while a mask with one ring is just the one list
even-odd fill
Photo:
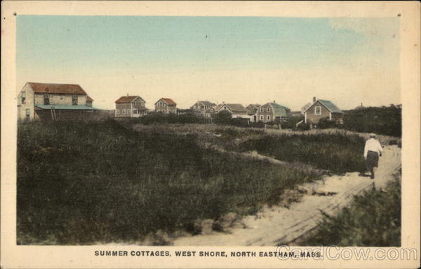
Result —
[[97, 110], [93, 99], [76, 84], [27, 82], [18, 94], [18, 119], [83, 119]]

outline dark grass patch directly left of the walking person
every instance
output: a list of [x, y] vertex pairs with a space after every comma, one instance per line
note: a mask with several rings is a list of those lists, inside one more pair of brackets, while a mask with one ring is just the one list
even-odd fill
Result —
[[246, 140], [240, 151], [257, 150], [286, 162], [300, 162], [334, 173], [363, 171], [364, 139], [344, 134], [273, 135]]

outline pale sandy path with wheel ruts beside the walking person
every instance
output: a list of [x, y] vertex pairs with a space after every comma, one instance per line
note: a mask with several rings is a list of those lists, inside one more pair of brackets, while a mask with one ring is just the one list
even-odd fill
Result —
[[[179, 237], [173, 244], [179, 246], [276, 246], [286, 244], [314, 229], [321, 220], [321, 212], [334, 214], [352, 202], [354, 195], [371, 188], [384, 188], [401, 166], [401, 150], [396, 145], [384, 148], [374, 180], [358, 173], [329, 176], [323, 181], [307, 183], [309, 190], [301, 202], [289, 209], [281, 206], [265, 207], [257, 216], [243, 218], [246, 228], [233, 228], [230, 233], [213, 232], [210, 235]], [[316, 192], [335, 192], [332, 196], [311, 195]]]

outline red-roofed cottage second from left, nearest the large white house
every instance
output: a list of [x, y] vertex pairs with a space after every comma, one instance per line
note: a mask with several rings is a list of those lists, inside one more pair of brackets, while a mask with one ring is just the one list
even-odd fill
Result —
[[145, 100], [140, 96], [121, 96], [114, 103], [116, 104], [116, 110], [114, 110], [116, 118], [142, 117], [149, 111], [145, 106]]

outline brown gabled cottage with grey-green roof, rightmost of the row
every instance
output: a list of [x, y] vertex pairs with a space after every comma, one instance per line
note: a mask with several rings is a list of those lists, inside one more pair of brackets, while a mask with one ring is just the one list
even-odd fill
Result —
[[314, 97], [312, 105], [309, 105], [304, 112], [304, 122], [306, 124], [317, 124], [320, 119], [327, 118], [342, 123], [343, 114], [344, 112], [342, 112], [334, 103], [328, 100], [317, 100]]

